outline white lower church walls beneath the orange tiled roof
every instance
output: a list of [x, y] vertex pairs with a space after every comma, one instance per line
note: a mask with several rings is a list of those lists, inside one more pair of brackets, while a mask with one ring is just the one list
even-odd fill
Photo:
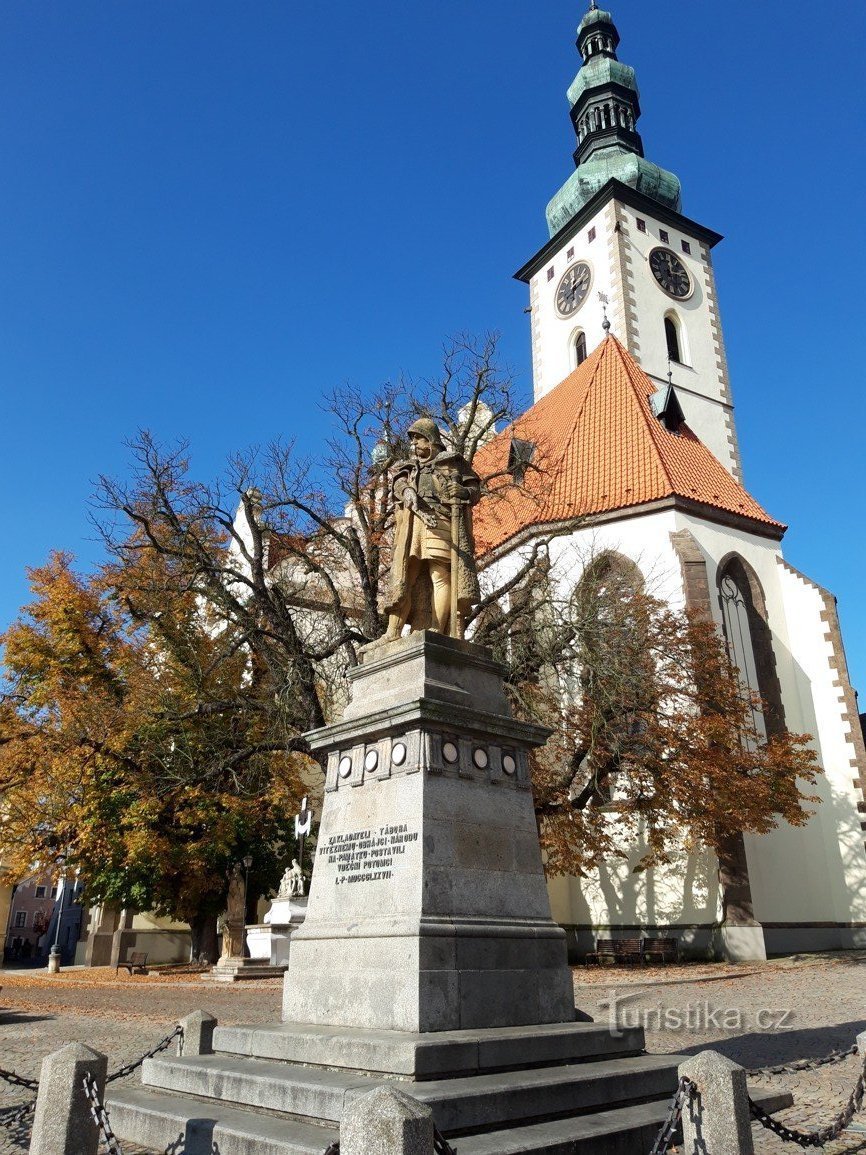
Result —
[[[583, 568], [605, 552], [625, 556], [643, 575], [649, 591], [672, 606], [687, 603], [674, 537], [687, 530], [703, 559], [710, 609], [722, 627], [719, 569], [741, 558], [760, 582], [772, 639], [785, 723], [814, 736], [823, 775], [820, 797], [804, 827], [782, 825], [766, 835], [746, 836], [755, 918], [768, 953], [866, 946], [866, 847], [858, 803], [857, 716], [850, 716], [844, 657], [833, 636], [833, 599], [793, 571], [770, 537], [677, 508], [583, 528], [551, 543], [552, 578], [565, 596]], [[498, 561], [486, 580], [501, 580], [516, 566], [518, 551]], [[833, 620], [828, 620], [833, 618]], [[841, 668], [842, 661], [842, 668]], [[850, 690], [850, 687], [849, 687]], [[611, 863], [589, 878], [550, 882], [554, 918], [574, 936], [573, 947], [591, 949], [597, 933], [617, 927], [675, 932], [686, 953], [706, 954], [718, 944], [722, 894], [710, 851], [682, 852], [671, 864], [632, 873], [644, 848], [627, 862]], [[760, 938], [759, 938], [760, 941]]]

